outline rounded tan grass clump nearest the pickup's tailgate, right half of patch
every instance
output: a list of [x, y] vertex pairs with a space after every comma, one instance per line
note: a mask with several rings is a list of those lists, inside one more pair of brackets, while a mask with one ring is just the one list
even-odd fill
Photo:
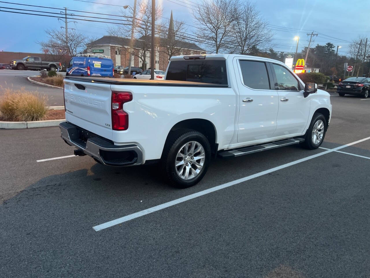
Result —
[[21, 121], [42, 120], [49, 108], [47, 100], [47, 96], [39, 93], [23, 93], [17, 108], [18, 119]]

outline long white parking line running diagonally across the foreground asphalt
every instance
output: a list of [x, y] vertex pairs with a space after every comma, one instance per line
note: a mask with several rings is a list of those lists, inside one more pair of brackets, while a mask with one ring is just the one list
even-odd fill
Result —
[[117, 218], [117, 219], [114, 219], [112, 221], [105, 222], [103, 224], [94, 226], [92, 228], [95, 231], [100, 231], [102, 229], [106, 229], [106, 228], [109, 228], [111, 226], [121, 224], [123, 222], [138, 218], [140, 216], [144, 216], [144, 215], [150, 214], [152, 212], [159, 211], [161, 209], [165, 209], [165, 208], [168, 208], [170, 206], [174, 206], [174, 205], [177, 205], [179, 203], [189, 201], [189, 200], [197, 198], [199, 196], [203, 196], [203, 195], [206, 195], [208, 193], [212, 193], [212, 192], [218, 191], [220, 189], [227, 188], [227, 187], [232, 186], [232, 185], [236, 185], [236, 184], [241, 183], [241, 182], [249, 181], [250, 179], [258, 178], [258, 177], [266, 175], [268, 173], [272, 173], [272, 172], [287, 168], [289, 166], [296, 165], [298, 163], [305, 162], [305, 161], [313, 159], [313, 158], [317, 158], [318, 156], [322, 156], [322, 155], [325, 155], [327, 153], [331, 153], [331, 152], [334, 152], [336, 150], [343, 149], [343, 148], [346, 148], [348, 146], [352, 146], [354, 144], [357, 144], [357, 143], [360, 143], [360, 142], [363, 142], [363, 141], [366, 141], [366, 140], [369, 140], [369, 139], [370, 139], [370, 137], [367, 137], [367, 138], [357, 140], [355, 142], [352, 142], [352, 143], [349, 143], [349, 144], [346, 144], [346, 145], [343, 145], [343, 146], [336, 147], [334, 149], [329, 149], [329, 150], [326, 150], [326, 151], [321, 152], [321, 153], [316, 153], [315, 155], [310, 155], [310, 156], [307, 156], [306, 158], [302, 158], [302, 159], [298, 159], [298, 160], [295, 160], [295, 161], [292, 161], [292, 162], [289, 162], [289, 163], [285, 163], [283, 165], [268, 169], [266, 171], [262, 171], [262, 172], [259, 172], [259, 173], [256, 173], [256, 174], [253, 174], [253, 175], [250, 175], [250, 176], [246, 176], [246, 177], [241, 178], [241, 179], [236, 179], [235, 181], [227, 182], [227, 183], [224, 183], [222, 185], [218, 185], [218, 186], [215, 186], [215, 187], [212, 187], [212, 188], [208, 188], [208, 189], [205, 189], [203, 191], [199, 191], [199, 192], [196, 192], [194, 194], [187, 195], [187, 196], [184, 196], [182, 198], [172, 200], [170, 202], [162, 203], [161, 205], [153, 206], [152, 208], [144, 209], [142, 211], [135, 212], [133, 214], [129, 214], [129, 215], [123, 216], [121, 218]]

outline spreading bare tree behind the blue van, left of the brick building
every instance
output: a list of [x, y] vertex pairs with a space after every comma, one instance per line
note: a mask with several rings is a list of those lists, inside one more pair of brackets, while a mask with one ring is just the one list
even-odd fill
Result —
[[46, 42], [38, 42], [44, 53], [60, 52], [61, 54], [75, 54], [84, 50], [88, 37], [84, 34], [77, 33], [75, 30], [68, 32], [68, 38], [65, 37], [64, 31], [58, 29], [48, 29], [45, 31], [49, 37]]

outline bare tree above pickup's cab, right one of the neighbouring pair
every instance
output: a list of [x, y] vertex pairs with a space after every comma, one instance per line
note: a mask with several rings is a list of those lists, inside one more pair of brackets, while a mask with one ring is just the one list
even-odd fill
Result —
[[267, 29], [255, 4], [244, 2], [239, 8], [238, 19], [232, 22], [233, 50], [239, 54], [249, 54], [252, 47], [266, 48], [273, 33]]

